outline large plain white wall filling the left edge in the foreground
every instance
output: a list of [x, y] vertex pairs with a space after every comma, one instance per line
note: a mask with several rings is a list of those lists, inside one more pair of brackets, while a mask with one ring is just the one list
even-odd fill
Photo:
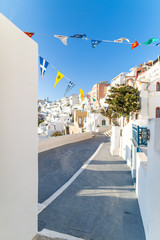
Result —
[[0, 14], [0, 239], [37, 232], [38, 46]]

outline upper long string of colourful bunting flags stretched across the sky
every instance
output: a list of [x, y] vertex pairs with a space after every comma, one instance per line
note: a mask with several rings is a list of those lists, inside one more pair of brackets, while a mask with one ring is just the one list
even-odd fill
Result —
[[[82, 40], [89, 40], [91, 41], [91, 46], [92, 48], [95, 48], [97, 45], [99, 45], [102, 42], [110, 42], [110, 43], [123, 43], [123, 44], [131, 44], [132, 47], [131, 49], [134, 49], [136, 47], [138, 47], [139, 45], [150, 45], [151, 43], [158, 41], [157, 38], [150, 38], [147, 41], [143, 42], [143, 43], [138, 43], [137, 40], [134, 41], [134, 43], [131, 43], [130, 40], [128, 38], [119, 38], [119, 39], [115, 39], [115, 40], [96, 40], [96, 39], [89, 39], [87, 38], [86, 34], [75, 34], [73, 36], [64, 36], [64, 35], [54, 35], [54, 34], [47, 34], [47, 33], [33, 33], [33, 32], [24, 32], [28, 37], [32, 37], [35, 34], [39, 34], [39, 35], [51, 35], [55, 38], [58, 38], [64, 45], [67, 46], [67, 41], [68, 38], [78, 38], [78, 39], [82, 39]], [[156, 45], [150, 45], [150, 46], [160, 46], [160, 43], [157, 43]]]

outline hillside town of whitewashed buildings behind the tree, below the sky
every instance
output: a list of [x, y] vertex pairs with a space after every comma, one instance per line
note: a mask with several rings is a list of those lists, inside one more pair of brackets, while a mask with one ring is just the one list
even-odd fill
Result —
[[[38, 101], [38, 135], [39, 140], [82, 132], [104, 132], [111, 136], [113, 121], [102, 114], [106, 112], [106, 99], [111, 87], [129, 85], [138, 88], [140, 95], [140, 110], [131, 113], [129, 121], [136, 121], [146, 126], [149, 118], [160, 117], [160, 73], [159, 57], [150, 60], [139, 67], [133, 67], [127, 73], [120, 73], [111, 81], [97, 82], [92, 90], [84, 96], [72, 94], [60, 100], [51, 102], [49, 99]], [[108, 83], [110, 82], [110, 83]], [[118, 118], [120, 127], [126, 126], [126, 118]]]

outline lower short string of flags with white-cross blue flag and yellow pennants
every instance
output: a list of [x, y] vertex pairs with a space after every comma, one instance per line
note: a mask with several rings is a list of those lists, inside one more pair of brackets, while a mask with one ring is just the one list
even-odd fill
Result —
[[[39, 61], [40, 61], [40, 71], [41, 71], [41, 78], [44, 77], [44, 74], [46, 72], [47, 67], [50, 65], [52, 68], [54, 68], [57, 71], [57, 76], [56, 76], [56, 80], [54, 83], [54, 88], [57, 85], [57, 83], [62, 79], [62, 78], [66, 78], [69, 83], [68, 86], [66, 88], [66, 91], [64, 93], [64, 96], [66, 96], [66, 94], [76, 85], [74, 82], [72, 82], [69, 78], [67, 78], [65, 75], [63, 75], [61, 72], [59, 72], [53, 65], [49, 64], [44, 58], [42, 58], [41, 56], [39, 56]], [[81, 102], [83, 101], [84, 98], [84, 91], [82, 89], [80, 89], [80, 96], [81, 96]]]

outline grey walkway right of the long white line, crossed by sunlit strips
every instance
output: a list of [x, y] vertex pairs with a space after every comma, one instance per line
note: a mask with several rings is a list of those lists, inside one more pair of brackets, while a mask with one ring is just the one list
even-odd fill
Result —
[[43, 228], [88, 240], [145, 240], [130, 169], [110, 155], [108, 143], [39, 214]]

